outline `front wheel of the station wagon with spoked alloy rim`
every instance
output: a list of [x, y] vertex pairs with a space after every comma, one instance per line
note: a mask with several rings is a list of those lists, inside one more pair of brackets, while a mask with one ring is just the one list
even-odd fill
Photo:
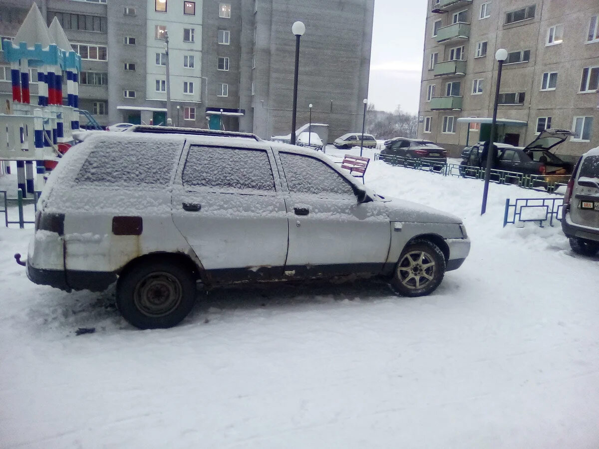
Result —
[[395, 265], [391, 287], [402, 296], [425, 296], [437, 289], [444, 275], [443, 252], [426, 239], [416, 239], [402, 251]]

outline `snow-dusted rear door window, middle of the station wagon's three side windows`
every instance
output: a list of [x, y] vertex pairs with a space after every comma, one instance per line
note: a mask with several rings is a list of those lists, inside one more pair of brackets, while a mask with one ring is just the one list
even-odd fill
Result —
[[191, 145], [182, 178], [184, 186], [274, 191], [264, 150]]

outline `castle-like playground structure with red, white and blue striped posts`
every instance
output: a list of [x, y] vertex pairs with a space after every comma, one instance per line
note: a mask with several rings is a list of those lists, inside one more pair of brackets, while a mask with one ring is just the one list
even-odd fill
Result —
[[[13, 101], [7, 100], [5, 113], [0, 114], [0, 168], [10, 173], [10, 161], [15, 160], [17, 189], [23, 198], [34, 198], [45, 183], [46, 170], [54, 168], [62, 156], [59, 145], [63, 150], [72, 140], [72, 131], [79, 129], [81, 56], [72, 50], [56, 17], [46, 26], [35, 3], [14, 40], [2, 41], [2, 50], [11, 65]], [[30, 68], [37, 69], [37, 104], [32, 104], [29, 92]]]

